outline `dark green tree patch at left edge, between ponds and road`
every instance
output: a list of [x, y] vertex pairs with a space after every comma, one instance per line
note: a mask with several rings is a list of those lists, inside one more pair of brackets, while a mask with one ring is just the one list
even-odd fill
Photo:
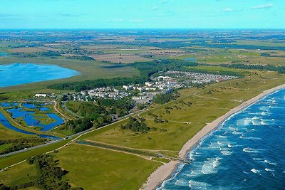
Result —
[[11, 144], [11, 146], [2, 149], [0, 154], [7, 154], [10, 152], [15, 152], [21, 149], [33, 147], [37, 144], [42, 144], [46, 142], [46, 139], [39, 138], [39, 137], [25, 137], [20, 139], [7, 139], [7, 140], [0, 140], [0, 145], [2, 144]]

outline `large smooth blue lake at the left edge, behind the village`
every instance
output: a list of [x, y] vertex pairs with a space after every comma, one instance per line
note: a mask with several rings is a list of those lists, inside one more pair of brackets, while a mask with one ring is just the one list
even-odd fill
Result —
[[45, 80], [69, 78], [79, 74], [76, 70], [61, 68], [57, 65], [34, 63], [0, 65], [0, 70], [0, 88]]

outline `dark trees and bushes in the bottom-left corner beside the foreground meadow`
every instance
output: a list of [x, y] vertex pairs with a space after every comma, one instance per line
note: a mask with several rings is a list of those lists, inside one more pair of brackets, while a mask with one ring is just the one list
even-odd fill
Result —
[[37, 187], [38, 189], [74, 189], [80, 190], [79, 188], [71, 188], [71, 185], [68, 184], [68, 181], [63, 179], [68, 171], [58, 167], [58, 161], [53, 159], [51, 154], [40, 154], [36, 157], [31, 157], [27, 159], [28, 164], [35, 164], [36, 169], [38, 170], [37, 176], [31, 176], [31, 180], [22, 183], [14, 184], [13, 186], [6, 186], [0, 184], [0, 189], [26, 189], [28, 187]]

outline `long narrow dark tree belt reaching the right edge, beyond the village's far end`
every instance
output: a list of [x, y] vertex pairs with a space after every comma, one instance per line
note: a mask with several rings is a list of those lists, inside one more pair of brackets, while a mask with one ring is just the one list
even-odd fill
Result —
[[221, 64], [220, 66], [226, 68], [239, 68], [239, 69], [255, 69], [255, 70], [270, 70], [278, 73], [285, 73], [285, 66], [274, 66], [274, 65], [245, 65], [245, 64]]

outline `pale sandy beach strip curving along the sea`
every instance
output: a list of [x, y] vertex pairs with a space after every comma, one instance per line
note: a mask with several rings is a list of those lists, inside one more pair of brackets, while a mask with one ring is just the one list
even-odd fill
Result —
[[[181, 159], [186, 159], [188, 152], [195, 147], [195, 145], [207, 134], [212, 132], [212, 130], [219, 127], [219, 124], [222, 123], [224, 120], [227, 120], [228, 117], [231, 115], [239, 112], [240, 110], [243, 110], [245, 107], [248, 107], [249, 105], [252, 105], [254, 102], [257, 102], [257, 100], [260, 100], [262, 97], [265, 97], [266, 95], [269, 95], [271, 93], [274, 93], [276, 90], [281, 90], [285, 88], [285, 84], [276, 86], [274, 88], [271, 88], [269, 90], [264, 90], [261, 94], [252, 97], [251, 99], [247, 100], [246, 102], [243, 102], [241, 105], [238, 105], [237, 107], [232, 108], [232, 110], [229, 110], [229, 112], [225, 113], [221, 117], [218, 117], [216, 120], [208, 123], [206, 126], [202, 128], [197, 134], [194, 135], [191, 139], [189, 139], [182, 147], [182, 149], [179, 152], [179, 157]], [[147, 179], [147, 182], [142, 186], [141, 189], [156, 189], [157, 186], [162, 184], [165, 179], [168, 179], [170, 175], [172, 174], [175, 169], [177, 169], [177, 165], [180, 164], [180, 162], [168, 162], [167, 164], [163, 164], [159, 168], [157, 168], [155, 171], [150, 174], [150, 176]]]

